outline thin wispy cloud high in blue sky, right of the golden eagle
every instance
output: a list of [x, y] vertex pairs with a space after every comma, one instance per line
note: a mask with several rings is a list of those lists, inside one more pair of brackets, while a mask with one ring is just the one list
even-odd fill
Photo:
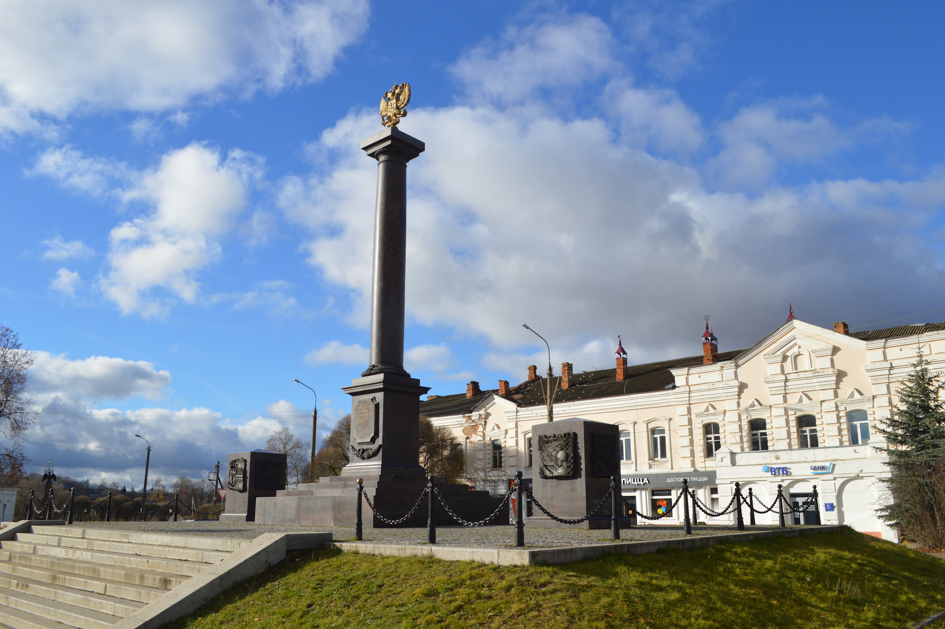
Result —
[[572, 86], [616, 66], [610, 29], [599, 18], [576, 15], [509, 26], [498, 42], [473, 48], [452, 67], [470, 95], [517, 102], [541, 87], [555, 88], [556, 106]]

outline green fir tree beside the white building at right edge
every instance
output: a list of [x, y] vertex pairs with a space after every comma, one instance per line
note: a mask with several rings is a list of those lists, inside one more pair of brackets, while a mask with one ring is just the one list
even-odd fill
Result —
[[899, 391], [885, 427], [879, 431], [888, 447], [890, 477], [885, 483], [893, 502], [879, 509], [880, 517], [921, 544], [945, 546], [945, 405], [939, 394], [941, 376], [932, 373], [922, 356]]

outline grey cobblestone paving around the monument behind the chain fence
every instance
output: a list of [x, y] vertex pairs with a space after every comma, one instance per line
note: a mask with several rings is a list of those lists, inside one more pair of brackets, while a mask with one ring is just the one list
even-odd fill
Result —
[[[255, 538], [263, 533], [293, 533], [322, 531], [333, 533], [336, 542], [352, 541], [353, 527], [309, 527], [309, 526], [270, 526], [252, 522], [217, 522], [205, 520], [196, 522], [83, 522], [75, 526], [89, 529], [115, 529], [141, 533], [178, 533], [182, 535], [206, 535], [212, 537]], [[748, 526], [746, 531], [769, 531], [777, 527]], [[737, 533], [734, 526], [697, 526], [694, 535], [718, 535]], [[622, 529], [620, 541], [655, 541], [672, 539], [685, 535], [681, 526], [636, 526]], [[425, 544], [426, 529], [371, 529], [364, 528], [364, 541], [377, 544]], [[437, 542], [441, 546], [465, 548], [513, 548], [515, 527], [484, 526], [475, 529], [467, 527], [437, 527]], [[547, 549], [584, 546], [587, 544], [610, 544], [610, 529], [531, 529], [525, 528], [527, 548]]]

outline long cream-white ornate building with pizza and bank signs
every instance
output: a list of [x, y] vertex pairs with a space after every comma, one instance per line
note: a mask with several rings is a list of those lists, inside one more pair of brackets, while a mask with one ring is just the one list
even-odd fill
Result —
[[[879, 479], [888, 475], [885, 455], [874, 448], [885, 443], [876, 428], [897, 402], [897, 383], [917, 351], [945, 370], [945, 323], [848, 329], [792, 315], [746, 350], [718, 354], [707, 329], [702, 356], [627, 366], [621, 347], [615, 369], [573, 374], [564, 363], [553, 379], [554, 416], [620, 428], [624, 497], [644, 514], [672, 504], [682, 478], [719, 509], [736, 481], [764, 505], [778, 484], [797, 503], [816, 485], [824, 524], [898, 541], [875, 513], [885, 495]], [[519, 470], [531, 478], [531, 428], [547, 415], [543, 386], [530, 366], [515, 387], [500, 381], [499, 389], [480, 391], [471, 382], [465, 394], [429, 396], [421, 413], [463, 441], [469, 482], [498, 491]], [[680, 522], [680, 511], [667, 521]], [[776, 524], [777, 511], [756, 521]]]

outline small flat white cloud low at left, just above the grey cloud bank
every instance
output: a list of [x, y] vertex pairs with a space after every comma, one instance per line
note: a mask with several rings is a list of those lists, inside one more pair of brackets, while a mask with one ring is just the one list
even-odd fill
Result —
[[168, 372], [155, 369], [146, 360], [105, 356], [72, 360], [42, 351], [34, 352], [34, 357], [27, 391], [41, 405], [50, 396], [66, 393], [88, 402], [134, 395], [157, 399], [171, 382]]

